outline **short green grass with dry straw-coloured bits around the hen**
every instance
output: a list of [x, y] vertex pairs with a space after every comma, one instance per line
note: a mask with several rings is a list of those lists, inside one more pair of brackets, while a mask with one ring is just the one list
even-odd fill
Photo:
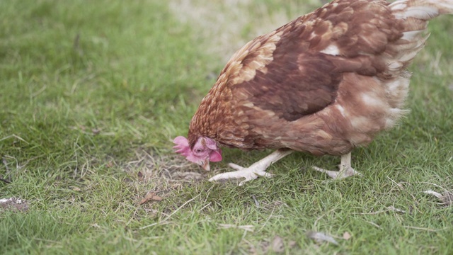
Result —
[[[0, 198], [29, 205], [0, 211], [0, 254], [272, 254], [275, 237], [286, 254], [451, 253], [453, 207], [423, 193], [453, 190], [451, 16], [430, 23], [411, 67], [411, 113], [353, 152], [362, 177], [329, 181], [310, 168], [338, 158], [292, 154], [273, 179], [213, 184], [171, 152], [231, 54], [210, 45], [216, 33], [246, 41], [275, 27], [261, 21], [297, 13], [292, 2], [245, 3], [217, 13], [256, 25], [226, 18], [212, 30], [209, 17], [184, 21], [178, 1], [0, 1], [0, 175], [12, 181]], [[140, 205], [149, 192], [163, 199]]]

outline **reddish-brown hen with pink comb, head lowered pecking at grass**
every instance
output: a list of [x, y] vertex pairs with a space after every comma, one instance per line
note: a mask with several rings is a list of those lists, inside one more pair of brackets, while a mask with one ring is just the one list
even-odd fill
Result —
[[406, 113], [406, 67], [425, 45], [428, 21], [453, 0], [336, 0], [259, 36], [236, 52], [202, 99], [176, 152], [210, 169], [219, 147], [277, 149], [210, 181], [270, 176], [294, 152], [341, 156], [332, 178], [358, 174], [350, 152]]

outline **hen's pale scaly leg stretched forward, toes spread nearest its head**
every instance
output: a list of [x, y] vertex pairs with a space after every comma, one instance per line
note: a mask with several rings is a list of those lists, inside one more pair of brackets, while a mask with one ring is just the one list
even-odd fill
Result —
[[229, 166], [233, 169], [236, 169], [237, 171], [217, 174], [216, 176], [213, 176], [209, 181], [245, 178], [245, 180], [239, 183], [239, 186], [243, 186], [244, 183], [246, 183], [247, 181], [257, 179], [258, 176], [270, 177], [272, 176], [272, 174], [269, 174], [268, 172], [265, 171], [270, 166], [270, 164], [277, 162], [279, 159], [282, 159], [283, 157], [291, 154], [292, 152], [294, 151], [291, 149], [277, 149], [275, 152], [269, 154], [267, 157], [261, 159], [260, 161], [248, 167], [242, 167], [230, 163]]

